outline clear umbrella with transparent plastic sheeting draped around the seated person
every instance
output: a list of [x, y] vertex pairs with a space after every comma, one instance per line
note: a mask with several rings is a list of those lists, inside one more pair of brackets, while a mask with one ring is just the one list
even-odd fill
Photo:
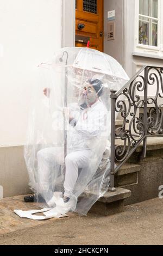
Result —
[[43, 208], [86, 215], [109, 186], [110, 89], [129, 78], [114, 58], [80, 47], [61, 48], [39, 70], [24, 147], [29, 185]]

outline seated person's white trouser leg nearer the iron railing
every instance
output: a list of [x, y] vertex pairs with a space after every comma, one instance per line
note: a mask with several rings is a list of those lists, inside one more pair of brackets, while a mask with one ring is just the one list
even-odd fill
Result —
[[89, 164], [89, 159], [92, 154], [91, 150], [74, 151], [68, 154], [65, 158], [66, 173], [64, 196], [71, 197], [74, 185], [78, 179], [78, 168], [83, 168]]

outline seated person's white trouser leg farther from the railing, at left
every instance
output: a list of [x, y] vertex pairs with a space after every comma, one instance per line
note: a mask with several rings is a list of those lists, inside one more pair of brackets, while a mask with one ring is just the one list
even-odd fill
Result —
[[37, 153], [38, 160], [38, 190], [49, 191], [52, 182], [51, 176], [57, 178], [60, 164], [64, 163], [64, 151], [62, 148], [45, 148]]

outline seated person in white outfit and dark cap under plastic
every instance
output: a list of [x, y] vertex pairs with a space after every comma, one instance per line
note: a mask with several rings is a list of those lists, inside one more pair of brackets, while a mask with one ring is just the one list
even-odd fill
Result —
[[[74, 186], [78, 179], [79, 169], [89, 165], [93, 157], [93, 145], [97, 145], [98, 139], [101, 139], [106, 126], [106, 107], [100, 100], [103, 91], [103, 84], [98, 79], [87, 81], [87, 87], [83, 89], [83, 95], [80, 97], [79, 104], [75, 111], [69, 113], [69, 123], [67, 131], [67, 145], [65, 157], [65, 180], [64, 196], [65, 203], [73, 196]], [[44, 89], [47, 96], [47, 89]], [[74, 110], [74, 109], [73, 109]], [[64, 164], [63, 150], [57, 147], [41, 149], [37, 153], [39, 190], [43, 195], [47, 192], [46, 202], [51, 207], [53, 197], [49, 198], [51, 188], [51, 172], [55, 166]], [[54, 179], [60, 179], [59, 168], [56, 168]], [[26, 202], [33, 202], [33, 195], [24, 197]]]

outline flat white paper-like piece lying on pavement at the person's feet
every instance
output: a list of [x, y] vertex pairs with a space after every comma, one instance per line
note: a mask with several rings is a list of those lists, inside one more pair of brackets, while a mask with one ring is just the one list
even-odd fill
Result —
[[[67, 217], [66, 214], [60, 214], [57, 208], [43, 208], [41, 210], [29, 210], [29, 211], [22, 211], [22, 210], [14, 210], [15, 214], [20, 216], [21, 218], [30, 218], [31, 220], [46, 220], [48, 218], [61, 218]], [[43, 215], [34, 215], [43, 212]]]

